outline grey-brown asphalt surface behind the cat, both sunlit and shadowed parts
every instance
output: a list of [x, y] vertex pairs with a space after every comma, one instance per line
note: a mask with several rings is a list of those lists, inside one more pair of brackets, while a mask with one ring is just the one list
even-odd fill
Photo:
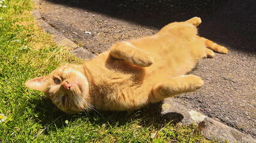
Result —
[[[44, 0], [44, 20], [98, 54], [119, 41], [156, 33], [172, 21], [201, 17], [200, 36], [230, 51], [200, 60], [189, 74], [204, 86], [176, 98], [228, 126], [256, 136], [256, 2], [245, 1], [67, 1]], [[91, 34], [89, 33], [91, 32]]]

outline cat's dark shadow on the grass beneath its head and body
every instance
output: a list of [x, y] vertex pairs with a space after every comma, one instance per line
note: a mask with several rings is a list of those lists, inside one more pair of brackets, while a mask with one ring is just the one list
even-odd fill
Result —
[[[153, 125], [161, 128], [167, 122], [175, 125], [183, 119], [182, 114], [174, 112], [163, 116], [161, 114], [162, 102], [146, 105], [146, 107], [136, 111], [88, 111], [76, 115], [68, 115], [62, 112], [47, 98], [31, 100], [28, 105], [34, 106], [32, 116], [38, 120], [38, 123], [45, 128], [50, 128], [50, 130], [65, 128], [67, 126], [66, 121], [74, 122], [76, 120], [89, 121], [99, 126], [104, 124], [122, 126], [135, 121], [140, 126]], [[47, 134], [47, 130], [44, 133]]]

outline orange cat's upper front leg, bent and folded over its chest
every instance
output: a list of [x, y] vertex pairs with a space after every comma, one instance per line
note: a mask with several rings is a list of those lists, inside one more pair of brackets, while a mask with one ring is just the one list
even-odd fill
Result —
[[139, 67], [148, 67], [153, 64], [153, 57], [149, 52], [137, 48], [129, 42], [120, 42], [113, 45], [110, 48], [110, 55]]

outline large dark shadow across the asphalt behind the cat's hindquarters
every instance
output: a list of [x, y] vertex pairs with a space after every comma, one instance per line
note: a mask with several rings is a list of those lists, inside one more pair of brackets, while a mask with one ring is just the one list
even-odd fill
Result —
[[254, 0], [179, 1], [179, 0], [47, 0], [55, 4], [94, 11], [144, 26], [161, 27], [172, 21], [201, 17], [201, 36], [225, 43], [228, 48], [255, 52]]

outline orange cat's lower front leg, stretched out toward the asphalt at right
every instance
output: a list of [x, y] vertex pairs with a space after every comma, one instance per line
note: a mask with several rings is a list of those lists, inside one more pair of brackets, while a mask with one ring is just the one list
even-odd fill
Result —
[[203, 80], [193, 75], [177, 76], [173, 79], [167, 79], [153, 86], [149, 102], [158, 102], [174, 95], [194, 92], [200, 89], [201, 86], [203, 86]]

